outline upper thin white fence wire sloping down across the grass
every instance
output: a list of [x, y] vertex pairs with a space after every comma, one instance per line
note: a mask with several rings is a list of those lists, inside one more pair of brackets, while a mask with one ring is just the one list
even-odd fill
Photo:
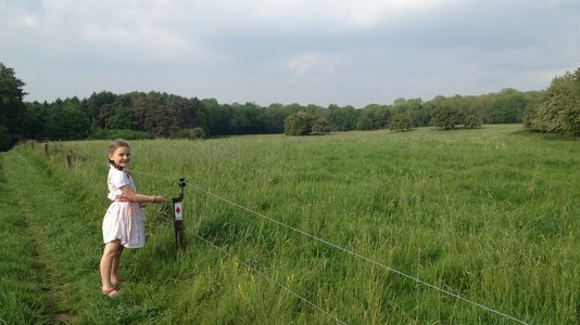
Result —
[[[139, 172], [139, 173], [141, 173], [141, 174], [146, 174], [146, 176], [150, 176], [150, 177], [155, 177], [155, 178], [161, 178], [161, 179], [169, 180], [169, 178], [167, 178], [167, 177], [162, 177], [162, 176], [157, 176], [157, 174], [146, 173], [146, 172]], [[431, 289], [433, 289], [433, 290], [436, 290], [436, 291], [440, 291], [440, 292], [445, 294], [445, 295], [447, 295], [447, 296], [451, 296], [451, 297], [453, 297], [453, 298], [455, 298], [455, 299], [458, 299], [458, 300], [462, 300], [462, 301], [464, 301], [464, 302], [466, 302], [466, 303], [469, 303], [469, 304], [471, 304], [471, 306], [478, 307], [478, 308], [480, 308], [481, 310], [484, 310], [484, 311], [490, 312], [490, 313], [494, 313], [494, 314], [496, 314], [496, 315], [503, 316], [503, 317], [505, 317], [505, 318], [507, 318], [507, 320], [510, 320], [510, 321], [514, 321], [514, 322], [516, 322], [516, 323], [528, 325], [528, 323], [526, 323], [526, 322], [524, 322], [524, 321], [521, 321], [521, 320], [519, 320], [519, 318], [517, 318], [517, 317], [515, 317], [515, 316], [512, 316], [512, 315], [509, 315], [509, 314], [503, 313], [503, 312], [501, 312], [501, 311], [497, 311], [497, 310], [495, 310], [495, 309], [492, 309], [492, 308], [490, 308], [490, 307], [487, 307], [487, 306], [484, 306], [484, 304], [482, 304], [482, 303], [472, 301], [472, 300], [470, 300], [470, 299], [468, 299], [468, 298], [465, 298], [465, 297], [463, 297], [463, 296], [461, 296], [461, 295], [457, 295], [457, 294], [452, 292], [452, 291], [450, 291], [450, 290], [443, 289], [442, 287], [432, 285], [432, 284], [430, 284], [430, 283], [428, 283], [428, 282], [425, 282], [425, 281], [423, 281], [423, 280], [420, 280], [420, 278], [417, 278], [417, 277], [415, 277], [415, 276], [413, 276], [413, 275], [406, 274], [406, 273], [404, 273], [404, 272], [402, 272], [402, 271], [399, 271], [399, 270], [396, 270], [396, 269], [393, 269], [393, 268], [391, 268], [391, 266], [389, 266], [389, 265], [386, 265], [386, 264], [383, 264], [383, 263], [381, 263], [381, 262], [375, 261], [375, 260], [373, 260], [373, 259], [370, 259], [370, 258], [368, 258], [368, 257], [365, 257], [365, 256], [363, 256], [363, 255], [361, 255], [361, 253], [358, 253], [358, 252], [356, 252], [356, 251], [353, 251], [353, 250], [350, 250], [350, 249], [348, 249], [348, 248], [341, 247], [341, 246], [339, 246], [339, 245], [337, 245], [337, 244], [333, 244], [333, 243], [330, 243], [330, 242], [328, 242], [328, 240], [326, 240], [326, 239], [324, 239], [324, 238], [317, 237], [317, 236], [312, 235], [312, 234], [310, 234], [310, 233], [306, 233], [306, 232], [304, 232], [304, 231], [302, 231], [302, 230], [300, 230], [300, 229], [293, 227], [293, 226], [291, 226], [291, 225], [288, 225], [288, 224], [286, 224], [286, 223], [283, 223], [283, 222], [280, 222], [280, 221], [278, 221], [278, 220], [276, 220], [276, 219], [273, 219], [273, 218], [270, 218], [270, 217], [267, 217], [267, 216], [265, 216], [265, 214], [263, 214], [263, 213], [256, 212], [256, 211], [254, 211], [254, 210], [252, 210], [252, 209], [249, 209], [249, 208], [247, 208], [247, 207], [244, 207], [244, 206], [242, 206], [242, 205], [240, 205], [240, 204], [237, 204], [237, 203], [235, 203], [235, 202], [232, 202], [232, 200], [230, 200], [230, 199], [227, 199], [227, 198], [222, 197], [222, 196], [219, 196], [219, 195], [217, 195], [217, 194], [214, 194], [214, 193], [212, 193], [212, 192], [210, 192], [210, 191], [207, 191], [207, 190], [204, 190], [203, 187], [201, 187], [201, 186], [199, 186], [199, 185], [192, 184], [192, 183], [190, 183], [190, 182], [187, 182], [187, 184], [189, 184], [191, 187], [193, 187], [194, 190], [197, 190], [197, 191], [199, 191], [199, 192], [202, 192], [202, 193], [204, 193], [204, 194], [206, 194], [206, 195], [209, 195], [209, 196], [213, 196], [214, 198], [217, 198], [217, 199], [219, 199], [219, 200], [223, 200], [223, 202], [225, 202], [225, 203], [227, 203], [227, 204], [229, 204], [229, 205], [231, 205], [231, 206], [235, 206], [235, 207], [237, 207], [237, 208], [240, 208], [240, 209], [242, 209], [242, 210], [244, 210], [244, 211], [247, 211], [247, 212], [249, 212], [249, 213], [255, 214], [255, 216], [261, 217], [261, 218], [263, 218], [263, 219], [265, 219], [265, 220], [268, 220], [268, 221], [270, 221], [270, 222], [273, 222], [273, 223], [275, 223], [275, 224], [278, 224], [278, 225], [280, 225], [280, 226], [283, 226], [283, 227], [286, 227], [286, 229], [289, 229], [289, 230], [291, 230], [291, 231], [293, 231], [293, 232], [297, 232], [297, 233], [299, 233], [299, 234], [302, 234], [302, 235], [304, 235], [304, 236], [306, 236], [306, 237], [310, 237], [310, 238], [312, 238], [312, 239], [314, 239], [314, 240], [317, 240], [317, 242], [320, 242], [320, 243], [323, 243], [323, 244], [326, 244], [326, 245], [328, 245], [328, 246], [330, 246], [330, 247], [332, 247], [332, 248], [336, 248], [336, 249], [338, 249], [338, 250], [341, 250], [341, 251], [343, 251], [343, 252], [345, 252], [345, 253], [348, 253], [348, 255], [354, 256], [354, 257], [356, 257], [356, 258], [358, 258], [358, 259], [362, 259], [362, 260], [364, 260], [364, 261], [366, 261], [366, 262], [369, 262], [369, 263], [371, 263], [371, 264], [374, 264], [374, 265], [376, 265], [376, 266], [382, 268], [382, 269], [384, 269], [384, 270], [387, 270], [387, 271], [393, 272], [393, 273], [395, 273], [395, 274], [398, 274], [398, 275], [400, 275], [400, 276], [403, 276], [403, 277], [406, 277], [406, 278], [408, 278], [408, 280], [415, 281], [416, 283], [421, 284], [421, 285], [424, 285], [424, 286], [427, 286], [427, 287], [429, 287], [429, 288], [431, 288]], [[312, 304], [312, 303], [311, 303], [311, 304]]]

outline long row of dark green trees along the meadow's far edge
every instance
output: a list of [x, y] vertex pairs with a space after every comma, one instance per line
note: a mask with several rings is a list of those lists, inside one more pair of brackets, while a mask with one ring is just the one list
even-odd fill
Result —
[[[544, 91], [503, 89], [482, 95], [439, 95], [427, 102], [398, 99], [392, 104], [369, 104], [358, 108], [336, 104], [328, 107], [297, 103], [268, 106], [223, 104], [215, 99], [200, 100], [156, 91], [124, 94], [101, 91], [87, 99], [74, 96], [39, 103], [24, 101], [25, 83], [16, 78], [14, 69], [0, 63], [0, 150], [10, 148], [24, 139], [110, 139], [119, 134], [127, 139], [317, 134], [518, 122], [540, 131], [560, 132], [570, 128], [556, 127], [547, 122], [550, 118], [544, 115], [556, 115], [562, 122], [578, 116], [580, 95], [572, 90], [579, 83], [579, 75], [577, 70], [556, 77]], [[560, 100], [566, 102], [568, 112], [564, 116], [552, 112], [559, 112]], [[571, 133], [578, 135], [578, 132]]]

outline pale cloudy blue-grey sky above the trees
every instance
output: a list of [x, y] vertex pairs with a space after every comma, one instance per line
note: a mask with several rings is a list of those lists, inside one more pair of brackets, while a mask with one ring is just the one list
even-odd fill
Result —
[[543, 90], [578, 0], [0, 0], [0, 63], [48, 101], [160, 91], [364, 107]]

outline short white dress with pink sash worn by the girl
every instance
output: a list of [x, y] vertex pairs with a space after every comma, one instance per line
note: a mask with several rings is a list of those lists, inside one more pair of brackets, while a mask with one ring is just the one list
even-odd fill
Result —
[[121, 239], [127, 248], [144, 246], [144, 225], [139, 203], [122, 195], [121, 187], [129, 185], [137, 193], [133, 178], [125, 171], [111, 166], [106, 178], [109, 199], [113, 203], [103, 219], [103, 243]]

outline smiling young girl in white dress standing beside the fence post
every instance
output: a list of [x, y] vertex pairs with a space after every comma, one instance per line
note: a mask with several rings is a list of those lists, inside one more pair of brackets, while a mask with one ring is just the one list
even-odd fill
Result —
[[131, 150], [124, 140], [115, 140], [106, 150], [109, 156], [109, 199], [113, 203], [103, 219], [104, 251], [101, 258], [101, 292], [109, 297], [118, 294], [118, 262], [123, 248], [139, 248], [144, 245], [144, 227], [141, 205], [161, 204], [165, 198], [157, 195], [138, 194], [127, 165]]

